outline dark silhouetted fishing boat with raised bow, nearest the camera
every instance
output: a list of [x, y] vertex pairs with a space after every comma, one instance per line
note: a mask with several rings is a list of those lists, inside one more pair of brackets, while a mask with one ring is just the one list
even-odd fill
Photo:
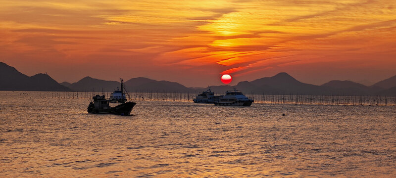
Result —
[[125, 102], [115, 107], [109, 106], [110, 100], [105, 99], [104, 95], [99, 94], [92, 97], [94, 101], [88, 105], [88, 113], [93, 114], [118, 114], [118, 115], [130, 115], [136, 102]]

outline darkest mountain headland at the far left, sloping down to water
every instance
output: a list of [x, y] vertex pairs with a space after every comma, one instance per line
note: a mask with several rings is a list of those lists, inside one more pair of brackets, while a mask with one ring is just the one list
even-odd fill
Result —
[[3, 62], [0, 62], [0, 90], [71, 91], [71, 89], [58, 84], [47, 74], [36, 74], [29, 77]]

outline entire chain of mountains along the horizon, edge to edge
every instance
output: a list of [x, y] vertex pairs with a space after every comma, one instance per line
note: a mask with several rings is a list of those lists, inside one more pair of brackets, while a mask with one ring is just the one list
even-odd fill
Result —
[[[47, 74], [26, 76], [14, 67], [0, 62], [0, 90], [20, 91], [113, 91], [120, 86], [117, 81], [105, 81], [85, 77], [76, 83], [57, 83]], [[125, 81], [129, 92], [190, 92], [197, 93], [207, 88], [188, 88], [176, 82], [156, 81], [144, 77]], [[239, 89], [255, 94], [309, 94], [309, 95], [396, 95], [396, 76], [365, 86], [351, 81], [330, 81], [321, 86], [304, 84], [287, 73], [240, 82], [235, 86], [211, 86], [217, 93]]]

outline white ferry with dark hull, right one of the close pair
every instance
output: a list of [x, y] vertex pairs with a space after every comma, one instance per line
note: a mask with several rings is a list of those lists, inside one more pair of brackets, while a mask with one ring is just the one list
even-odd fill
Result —
[[225, 95], [214, 101], [214, 105], [219, 106], [250, 106], [254, 100], [246, 97], [241, 91], [227, 91]]

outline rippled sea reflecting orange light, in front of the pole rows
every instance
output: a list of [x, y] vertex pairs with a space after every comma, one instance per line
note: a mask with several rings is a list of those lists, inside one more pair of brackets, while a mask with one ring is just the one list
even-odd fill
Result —
[[395, 106], [137, 101], [123, 117], [38, 93], [0, 91], [0, 177], [396, 177]]

